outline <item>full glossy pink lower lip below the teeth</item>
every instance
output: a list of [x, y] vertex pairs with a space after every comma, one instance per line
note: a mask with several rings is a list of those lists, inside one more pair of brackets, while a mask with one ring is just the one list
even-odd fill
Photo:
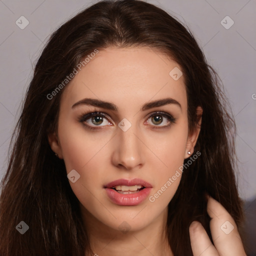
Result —
[[152, 187], [145, 187], [142, 190], [132, 194], [120, 194], [112, 188], [105, 188], [108, 197], [117, 205], [134, 206], [146, 199]]

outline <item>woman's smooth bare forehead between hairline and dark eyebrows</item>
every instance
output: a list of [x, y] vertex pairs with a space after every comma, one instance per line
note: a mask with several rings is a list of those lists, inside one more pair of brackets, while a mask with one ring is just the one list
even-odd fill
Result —
[[83, 97], [93, 97], [115, 102], [120, 107], [172, 97], [186, 108], [180, 69], [174, 60], [151, 48], [108, 47], [90, 57], [62, 96], [69, 105]]

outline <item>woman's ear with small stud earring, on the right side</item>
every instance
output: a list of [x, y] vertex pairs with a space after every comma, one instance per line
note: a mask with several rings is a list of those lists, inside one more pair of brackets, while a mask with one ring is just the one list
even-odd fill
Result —
[[[186, 151], [184, 155], [184, 159], [189, 157], [193, 151], [194, 151], [194, 146], [197, 141], [200, 129], [201, 129], [201, 120], [202, 120], [202, 108], [200, 106], [197, 106], [196, 108], [196, 126], [193, 128], [192, 131], [189, 132], [188, 137], [187, 137], [187, 142], [186, 142]], [[188, 154], [187, 152], [190, 151], [191, 154]]]

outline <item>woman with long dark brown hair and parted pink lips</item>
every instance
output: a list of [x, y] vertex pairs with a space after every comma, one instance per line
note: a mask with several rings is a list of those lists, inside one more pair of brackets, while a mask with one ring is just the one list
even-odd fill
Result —
[[51, 35], [26, 93], [0, 255], [245, 255], [227, 106], [165, 11], [110, 0], [78, 13]]

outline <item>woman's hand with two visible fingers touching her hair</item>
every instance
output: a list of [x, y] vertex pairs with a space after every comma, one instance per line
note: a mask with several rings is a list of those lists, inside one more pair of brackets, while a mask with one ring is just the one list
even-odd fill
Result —
[[193, 256], [246, 256], [237, 226], [226, 209], [211, 196], [207, 202], [214, 245], [198, 221], [189, 226]]

